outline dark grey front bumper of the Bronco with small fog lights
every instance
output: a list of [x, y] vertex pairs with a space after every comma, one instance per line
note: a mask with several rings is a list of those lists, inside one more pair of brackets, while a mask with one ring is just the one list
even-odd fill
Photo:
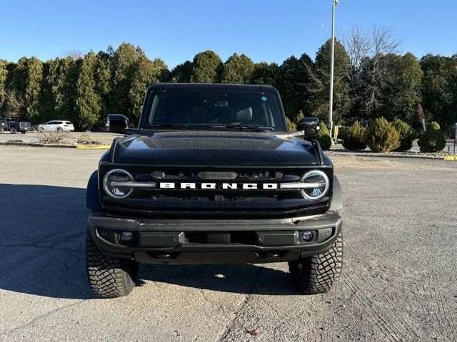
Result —
[[[341, 232], [337, 212], [299, 219], [159, 220], [93, 212], [89, 231], [103, 254], [149, 264], [259, 264], [321, 254]], [[301, 232], [310, 231], [309, 242]], [[131, 233], [123, 241], [121, 234]]]

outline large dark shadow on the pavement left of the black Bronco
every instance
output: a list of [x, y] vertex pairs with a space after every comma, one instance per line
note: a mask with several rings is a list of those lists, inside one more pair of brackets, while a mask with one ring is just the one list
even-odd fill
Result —
[[0, 289], [92, 298], [86, 280], [86, 189], [0, 184]]

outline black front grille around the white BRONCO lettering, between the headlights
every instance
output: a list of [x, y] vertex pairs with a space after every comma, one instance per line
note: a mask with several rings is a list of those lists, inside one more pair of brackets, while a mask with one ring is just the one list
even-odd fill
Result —
[[[312, 202], [303, 198], [299, 190], [263, 190], [263, 184], [279, 185], [283, 182], [298, 182], [310, 170], [306, 167], [253, 169], [233, 168], [199, 169], [192, 167], [161, 167], [140, 165], [101, 165], [100, 180], [104, 174], [116, 168], [124, 169], [134, 176], [136, 182], [170, 182], [181, 184], [192, 182], [197, 185], [214, 182], [216, 188], [202, 190], [190, 189], [146, 189], [136, 188], [126, 199], [111, 199], [103, 192], [101, 202], [106, 211], [113, 214], [134, 215], [142, 214], [146, 217], [245, 217], [246, 214], [258, 213], [260, 217], [295, 217], [301, 214], [320, 214], [326, 212], [331, 201], [331, 191], [320, 201]], [[324, 170], [324, 169], [322, 169]], [[331, 179], [331, 167], [326, 169]], [[242, 187], [243, 183], [255, 183], [256, 190], [237, 188], [223, 189], [224, 183], [236, 183]], [[101, 187], [103, 188], [103, 187]], [[101, 190], [103, 191], [103, 190]]]

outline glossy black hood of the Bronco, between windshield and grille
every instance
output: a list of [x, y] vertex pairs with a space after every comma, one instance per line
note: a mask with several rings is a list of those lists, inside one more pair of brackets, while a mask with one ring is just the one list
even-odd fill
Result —
[[261, 132], [176, 131], [119, 141], [114, 162], [151, 165], [317, 165], [311, 143]]

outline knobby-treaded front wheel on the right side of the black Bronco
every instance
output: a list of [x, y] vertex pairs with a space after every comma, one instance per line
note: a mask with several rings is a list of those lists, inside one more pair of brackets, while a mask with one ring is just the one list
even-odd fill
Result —
[[338, 281], [343, 266], [343, 237], [323, 254], [289, 261], [293, 286], [304, 294], [325, 294]]

